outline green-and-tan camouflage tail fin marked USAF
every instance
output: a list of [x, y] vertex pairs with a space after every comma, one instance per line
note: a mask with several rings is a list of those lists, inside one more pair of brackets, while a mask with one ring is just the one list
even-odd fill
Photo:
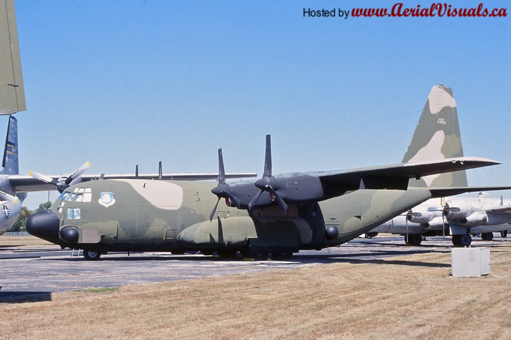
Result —
[[[435, 85], [429, 92], [419, 123], [406, 149], [403, 163], [463, 156], [456, 100], [452, 89]], [[412, 187], [467, 186], [465, 171], [424, 176], [408, 183]]]

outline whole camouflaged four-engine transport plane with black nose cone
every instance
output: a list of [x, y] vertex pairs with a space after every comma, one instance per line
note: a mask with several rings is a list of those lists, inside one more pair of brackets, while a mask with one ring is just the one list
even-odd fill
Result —
[[[408, 149], [441, 154], [448, 140], [443, 125], [440, 118], [421, 122]], [[394, 165], [272, 175], [267, 136], [263, 177], [226, 183], [221, 149], [218, 156], [216, 185], [123, 179], [69, 186], [51, 209], [28, 219], [27, 231], [62, 248], [83, 249], [89, 260], [119, 251], [290, 255], [340, 245], [432, 197], [480, 189], [463, 183], [413, 187], [410, 179], [427, 183], [436, 174], [497, 164], [425, 156]]]

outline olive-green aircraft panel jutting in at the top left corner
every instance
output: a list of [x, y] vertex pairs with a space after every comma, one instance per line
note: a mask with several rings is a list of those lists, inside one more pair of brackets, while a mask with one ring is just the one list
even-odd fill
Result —
[[14, 0], [0, 0], [0, 114], [25, 110]]

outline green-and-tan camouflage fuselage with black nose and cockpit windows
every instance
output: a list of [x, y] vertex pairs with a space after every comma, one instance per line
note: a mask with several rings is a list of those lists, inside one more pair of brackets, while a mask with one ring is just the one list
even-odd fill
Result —
[[[214, 182], [99, 180], [62, 192], [27, 231], [61, 247], [112, 251], [294, 253], [349, 241], [431, 197], [425, 189], [356, 190], [321, 202], [245, 209], [220, 202]], [[269, 195], [269, 193], [263, 193]]]

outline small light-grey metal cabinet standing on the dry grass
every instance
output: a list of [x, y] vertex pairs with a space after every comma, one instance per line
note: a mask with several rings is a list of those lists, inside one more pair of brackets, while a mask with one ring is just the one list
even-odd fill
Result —
[[480, 277], [490, 274], [490, 249], [453, 248], [451, 269], [453, 277]]

